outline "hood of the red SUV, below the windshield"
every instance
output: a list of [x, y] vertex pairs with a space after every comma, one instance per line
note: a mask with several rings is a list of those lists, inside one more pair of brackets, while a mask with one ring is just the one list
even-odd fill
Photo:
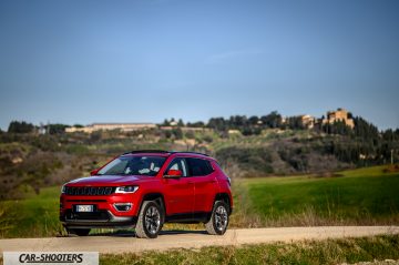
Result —
[[[145, 176], [146, 179], [151, 176]], [[120, 176], [120, 175], [96, 175], [96, 176], [88, 176], [81, 177], [73, 181], [70, 181], [66, 184], [74, 185], [89, 185], [89, 186], [116, 186], [116, 185], [131, 185], [134, 182], [140, 182], [142, 176]]]

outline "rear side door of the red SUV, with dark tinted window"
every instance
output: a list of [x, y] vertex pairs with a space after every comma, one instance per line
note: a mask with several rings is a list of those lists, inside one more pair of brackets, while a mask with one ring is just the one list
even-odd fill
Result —
[[194, 213], [208, 213], [212, 211], [217, 180], [209, 161], [202, 159], [186, 159], [188, 173], [194, 182]]

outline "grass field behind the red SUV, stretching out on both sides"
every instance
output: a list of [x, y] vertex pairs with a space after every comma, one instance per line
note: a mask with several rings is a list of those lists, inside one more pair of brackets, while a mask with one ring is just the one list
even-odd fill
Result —
[[[399, 173], [385, 166], [311, 175], [234, 180], [232, 227], [398, 224]], [[58, 220], [60, 187], [0, 202], [1, 237], [63, 234]], [[17, 214], [18, 213], [18, 214]], [[167, 225], [165, 228], [202, 228]]]

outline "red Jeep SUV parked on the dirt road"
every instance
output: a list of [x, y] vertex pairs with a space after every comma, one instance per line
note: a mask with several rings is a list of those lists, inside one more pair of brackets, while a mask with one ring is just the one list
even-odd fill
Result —
[[134, 227], [154, 238], [167, 223], [204, 223], [223, 235], [233, 211], [231, 180], [217, 162], [194, 152], [134, 151], [91, 176], [62, 186], [60, 221], [69, 233]]

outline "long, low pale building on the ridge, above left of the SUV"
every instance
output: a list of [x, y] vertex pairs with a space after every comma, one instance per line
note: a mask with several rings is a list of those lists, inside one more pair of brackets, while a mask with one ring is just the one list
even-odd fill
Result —
[[82, 128], [66, 128], [66, 133], [72, 132], [85, 132], [85, 133], [92, 133], [95, 131], [111, 131], [111, 130], [121, 130], [122, 132], [131, 132], [131, 131], [137, 131], [137, 130], [144, 130], [144, 129], [153, 129], [156, 128], [156, 124], [154, 123], [93, 123], [88, 126]]

